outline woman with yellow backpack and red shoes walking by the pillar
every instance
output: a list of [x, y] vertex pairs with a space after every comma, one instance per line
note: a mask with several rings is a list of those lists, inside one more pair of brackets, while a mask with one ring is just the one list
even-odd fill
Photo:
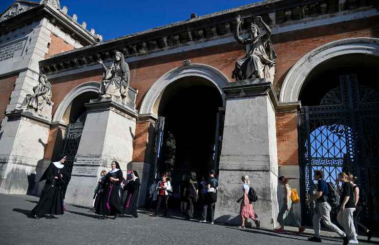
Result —
[[295, 218], [295, 215], [293, 213], [291, 187], [288, 184], [288, 179], [284, 176], [279, 177], [279, 184], [282, 192], [283, 203], [278, 213], [278, 222], [280, 224], [280, 228], [275, 229], [275, 232], [283, 233], [285, 225], [294, 224], [299, 227], [298, 234], [301, 234], [305, 229], [300, 225], [300, 222]]

